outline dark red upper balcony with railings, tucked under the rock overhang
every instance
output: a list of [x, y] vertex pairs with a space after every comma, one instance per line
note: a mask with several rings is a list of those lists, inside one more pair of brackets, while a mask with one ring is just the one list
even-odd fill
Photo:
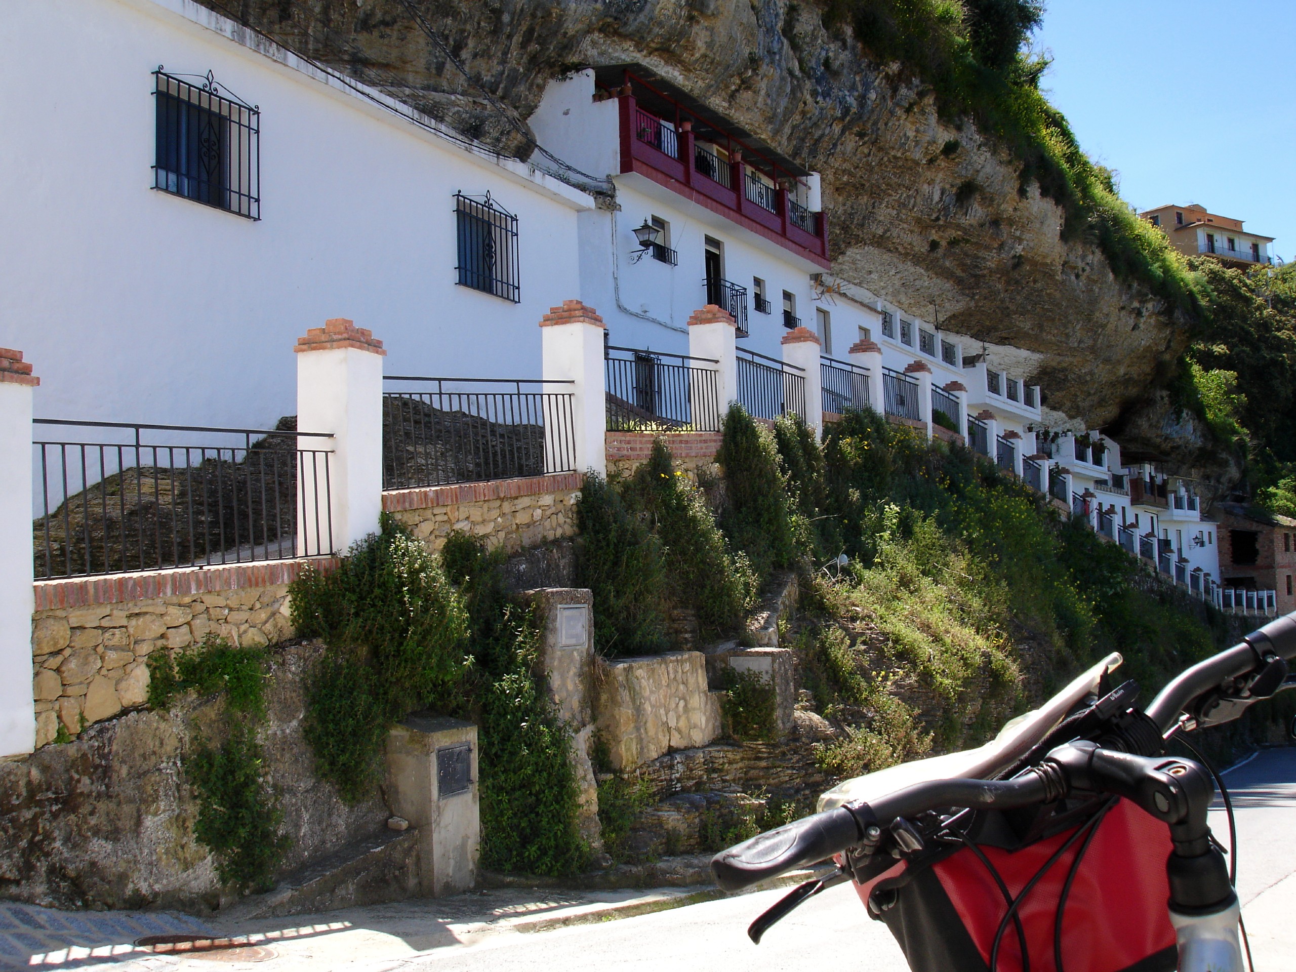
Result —
[[621, 172], [643, 175], [828, 268], [827, 219], [806, 205], [805, 170], [736, 126], [726, 131], [717, 115], [669, 88], [626, 71], [625, 84], [605, 89], [619, 105]]

